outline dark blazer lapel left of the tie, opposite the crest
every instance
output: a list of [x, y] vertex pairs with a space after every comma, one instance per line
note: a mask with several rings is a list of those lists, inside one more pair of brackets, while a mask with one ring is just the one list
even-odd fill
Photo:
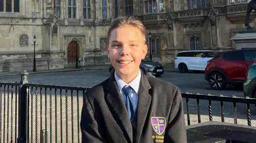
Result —
[[119, 121], [122, 123], [127, 135], [130, 138], [130, 142], [132, 142], [133, 140], [132, 124], [131, 124], [126, 106], [123, 103], [122, 96], [118, 90], [114, 74], [112, 74], [111, 77], [109, 78], [106, 89], [108, 90], [108, 95], [107, 95], [108, 103], [115, 111]]

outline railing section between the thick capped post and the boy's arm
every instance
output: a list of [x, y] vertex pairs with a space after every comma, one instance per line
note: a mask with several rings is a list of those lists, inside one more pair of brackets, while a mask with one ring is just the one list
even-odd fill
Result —
[[[28, 140], [37, 142], [39, 137], [41, 140], [50, 142], [79, 142], [81, 140], [79, 114], [82, 110], [83, 94], [87, 88], [31, 83], [27, 83], [26, 88], [28, 107], [30, 107], [26, 134]], [[38, 130], [41, 132], [38, 133]], [[42, 135], [43, 130], [46, 136]]]

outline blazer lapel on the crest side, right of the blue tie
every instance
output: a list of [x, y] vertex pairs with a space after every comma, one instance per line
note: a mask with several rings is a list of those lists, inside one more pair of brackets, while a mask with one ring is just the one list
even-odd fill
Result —
[[137, 108], [137, 133], [135, 142], [139, 142], [151, 103], [151, 95], [148, 91], [151, 88], [146, 75], [141, 75], [140, 88], [138, 91], [138, 108]]

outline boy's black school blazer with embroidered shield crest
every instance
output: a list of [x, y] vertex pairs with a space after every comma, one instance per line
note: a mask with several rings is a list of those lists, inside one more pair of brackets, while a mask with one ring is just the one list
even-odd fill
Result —
[[187, 143], [181, 92], [171, 83], [142, 74], [134, 137], [114, 74], [88, 89], [83, 99], [83, 143]]

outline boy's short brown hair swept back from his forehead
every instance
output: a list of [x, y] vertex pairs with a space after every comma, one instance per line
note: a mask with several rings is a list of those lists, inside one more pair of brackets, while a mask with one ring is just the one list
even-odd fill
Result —
[[142, 34], [145, 35], [145, 44], [146, 44], [147, 29], [144, 26], [144, 24], [134, 16], [122, 16], [115, 19], [114, 22], [111, 24], [111, 27], [108, 29], [107, 45], [109, 45], [109, 38], [111, 35], [111, 31], [118, 27], [124, 27], [124, 26], [133, 26], [138, 28], [142, 32]]

